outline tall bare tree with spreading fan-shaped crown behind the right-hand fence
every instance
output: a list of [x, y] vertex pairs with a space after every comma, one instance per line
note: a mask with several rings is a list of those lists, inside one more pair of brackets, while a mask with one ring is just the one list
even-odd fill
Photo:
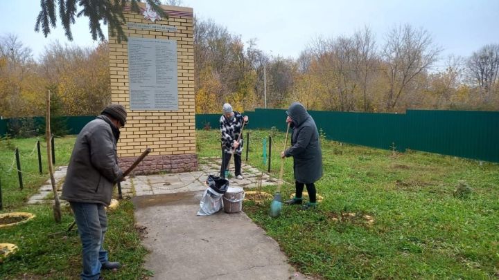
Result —
[[387, 111], [394, 111], [401, 95], [437, 61], [440, 52], [441, 48], [433, 44], [432, 37], [423, 28], [405, 25], [389, 31], [383, 50], [389, 80]]

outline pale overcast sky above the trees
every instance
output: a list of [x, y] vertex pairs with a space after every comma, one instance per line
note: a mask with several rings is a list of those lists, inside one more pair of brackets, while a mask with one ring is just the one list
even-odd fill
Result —
[[[499, 0], [183, 0], [200, 19], [225, 26], [244, 42], [256, 39], [270, 55], [297, 57], [311, 39], [350, 36], [369, 26], [382, 46], [385, 33], [399, 24], [430, 32], [444, 48], [442, 57], [468, 57], [486, 44], [499, 44]], [[69, 43], [58, 21], [48, 38], [34, 31], [39, 0], [2, 0], [0, 36], [15, 34], [38, 58], [45, 46]], [[104, 26], [107, 34], [107, 28]], [[86, 18], [73, 26], [69, 44], [96, 46]]]

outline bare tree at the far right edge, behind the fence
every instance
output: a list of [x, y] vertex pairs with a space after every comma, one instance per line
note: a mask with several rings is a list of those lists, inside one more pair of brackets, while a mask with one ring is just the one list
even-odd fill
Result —
[[499, 44], [491, 44], [480, 48], [468, 60], [469, 75], [473, 84], [478, 86], [482, 101], [491, 97], [493, 84], [499, 76]]

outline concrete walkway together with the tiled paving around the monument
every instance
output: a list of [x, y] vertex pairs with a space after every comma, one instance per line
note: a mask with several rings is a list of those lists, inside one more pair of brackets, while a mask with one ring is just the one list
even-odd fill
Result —
[[[243, 180], [231, 187], [246, 190], [275, 185], [276, 178], [243, 163]], [[67, 168], [55, 172], [62, 187]], [[220, 159], [201, 158], [199, 171], [134, 176], [121, 183], [132, 197], [137, 227], [150, 250], [145, 267], [154, 279], [305, 279], [287, 263], [276, 241], [244, 212], [196, 216], [208, 175], [220, 172]], [[28, 203], [46, 203], [50, 180]], [[244, 209], [243, 209], [244, 211]]]

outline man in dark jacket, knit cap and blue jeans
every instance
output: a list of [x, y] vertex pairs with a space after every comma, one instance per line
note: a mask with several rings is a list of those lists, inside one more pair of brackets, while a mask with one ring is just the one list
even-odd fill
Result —
[[81, 279], [99, 279], [101, 269], [120, 268], [107, 259], [103, 248], [107, 231], [105, 207], [111, 203], [114, 183], [123, 180], [116, 144], [127, 113], [120, 104], [106, 106], [78, 134], [69, 160], [61, 198], [69, 201], [82, 242]]

